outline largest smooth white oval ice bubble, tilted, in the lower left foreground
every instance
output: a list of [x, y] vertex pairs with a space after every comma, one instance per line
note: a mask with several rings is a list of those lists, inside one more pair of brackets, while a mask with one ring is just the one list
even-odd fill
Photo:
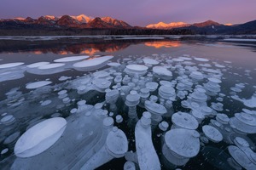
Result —
[[36, 156], [61, 138], [67, 121], [61, 117], [50, 118], [29, 128], [15, 144], [15, 156]]

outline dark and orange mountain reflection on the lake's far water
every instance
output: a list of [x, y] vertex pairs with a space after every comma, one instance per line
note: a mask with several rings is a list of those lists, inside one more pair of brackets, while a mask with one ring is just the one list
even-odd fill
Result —
[[99, 52], [113, 53], [121, 49], [125, 49], [132, 44], [144, 43], [148, 47], [154, 48], [176, 48], [181, 44], [177, 41], [168, 40], [91, 40], [85, 39], [61, 39], [61, 41], [14, 41], [14, 40], [0, 40], [0, 53], [26, 53], [33, 54], [96, 54]]

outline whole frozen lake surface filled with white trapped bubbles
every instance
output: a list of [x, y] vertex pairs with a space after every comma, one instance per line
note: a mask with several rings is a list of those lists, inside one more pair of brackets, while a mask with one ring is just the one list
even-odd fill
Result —
[[[71, 56], [84, 57], [67, 58]], [[0, 169], [79, 169], [97, 152], [102, 158], [92, 162], [107, 161], [97, 169], [122, 169], [126, 161], [132, 169], [148, 162], [147, 150], [155, 150], [156, 160], [150, 165], [160, 162], [161, 169], [253, 169], [255, 64], [253, 42], [88, 37], [2, 39]], [[157, 86], [154, 88], [148, 82], [156, 82]], [[129, 95], [131, 101], [127, 101]], [[166, 111], [164, 114], [160, 113], [161, 107]], [[143, 131], [136, 124], [145, 111], [151, 113], [151, 127], [142, 127]], [[186, 114], [182, 116], [178, 111]], [[119, 116], [123, 121], [117, 120]], [[182, 120], [176, 120], [176, 116], [182, 116]], [[61, 132], [58, 129], [55, 133], [38, 129], [23, 141], [31, 142], [31, 147], [20, 153], [15, 151], [23, 133], [53, 117], [63, 117], [67, 122], [61, 127], [59, 139], [53, 144], [49, 142]], [[161, 122], [163, 126], [168, 123], [168, 127], [160, 129]], [[112, 150], [109, 155], [109, 144], [116, 140], [105, 142], [114, 131], [113, 126], [125, 134], [128, 152], [122, 146], [119, 152], [125, 150], [124, 153]], [[57, 127], [52, 128], [54, 132]], [[37, 138], [38, 143], [33, 143]], [[173, 141], [176, 138], [177, 143]], [[144, 147], [140, 145], [143, 140]]]

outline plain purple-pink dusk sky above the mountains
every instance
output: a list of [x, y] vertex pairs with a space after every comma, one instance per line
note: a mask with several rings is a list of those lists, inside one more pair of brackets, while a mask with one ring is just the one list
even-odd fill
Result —
[[163, 21], [215, 20], [240, 24], [256, 20], [256, 0], [1, 0], [0, 18], [63, 14], [110, 16], [131, 26]]

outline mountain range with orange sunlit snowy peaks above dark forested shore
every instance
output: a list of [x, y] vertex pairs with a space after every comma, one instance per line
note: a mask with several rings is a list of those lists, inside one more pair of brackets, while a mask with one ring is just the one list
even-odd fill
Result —
[[[91, 34], [91, 30], [119, 30], [108, 31], [108, 34], [255, 34], [256, 20], [240, 24], [240, 25], [224, 25], [218, 22], [207, 20], [201, 23], [188, 24], [184, 22], [159, 22], [145, 27], [131, 26], [123, 20], [113, 19], [111, 17], [90, 17], [84, 14], [78, 16], [63, 15], [61, 17], [45, 15], [38, 19], [15, 18], [0, 20], [0, 35], [9, 35], [14, 31], [26, 32], [26, 30], [39, 30], [44, 34], [44, 31], [75, 31]], [[125, 31], [124, 31], [125, 30]], [[9, 32], [9, 33], [7, 33]], [[7, 33], [7, 34], [5, 34]], [[106, 31], [102, 32], [105, 34]], [[23, 33], [20, 33], [23, 34]], [[28, 32], [26, 32], [26, 35]], [[54, 34], [54, 33], [53, 33]], [[73, 33], [71, 33], [73, 34]], [[75, 34], [75, 33], [74, 33]], [[83, 33], [81, 33], [83, 34]], [[100, 32], [96, 33], [100, 34]]]

